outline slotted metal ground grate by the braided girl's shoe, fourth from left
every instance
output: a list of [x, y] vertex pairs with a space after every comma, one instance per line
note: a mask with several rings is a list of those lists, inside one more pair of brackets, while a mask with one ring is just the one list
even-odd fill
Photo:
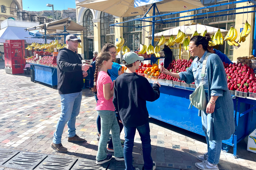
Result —
[[96, 160], [79, 158], [71, 170], [106, 170], [109, 164], [110, 161], [101, 165], [97, 165]]

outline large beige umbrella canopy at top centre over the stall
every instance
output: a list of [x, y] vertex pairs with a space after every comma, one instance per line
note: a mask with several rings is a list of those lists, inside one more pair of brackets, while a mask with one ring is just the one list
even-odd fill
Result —
[[[147, 2], [154, 0], [148, 0]], [[134, 0], [84, 0], [76, 1], [76, 6], [90, 8], [118, 17], [130, 17], [144, 15], [151, 5], [144, 5], [134, 8]], [[161, 0], [156, 2], [159, 12], [184, 11], [204, 7], [199, 0]], [[153, 9], [149, 11], [153, 13]], [[156, 10], [156, 15], [157, 15]]]

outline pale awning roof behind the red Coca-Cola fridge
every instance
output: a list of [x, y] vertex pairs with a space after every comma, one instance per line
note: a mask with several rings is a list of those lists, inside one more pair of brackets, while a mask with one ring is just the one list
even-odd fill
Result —
[[38, 42], [44, 43], [43, 39], [30, 39], [32, 37], [23, 27], [5, 27], [0, 30], [0, 42], [5, 40], [25, 40], [27, 43]]

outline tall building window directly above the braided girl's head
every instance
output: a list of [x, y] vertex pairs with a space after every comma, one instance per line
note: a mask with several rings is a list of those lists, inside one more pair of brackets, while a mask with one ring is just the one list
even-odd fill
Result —
[[109, 26], [114, 24], [113, 15], [101, 12], [100, 14], [100, 45], [101, 48], [105, 43], [114, 43], [114, 26]]

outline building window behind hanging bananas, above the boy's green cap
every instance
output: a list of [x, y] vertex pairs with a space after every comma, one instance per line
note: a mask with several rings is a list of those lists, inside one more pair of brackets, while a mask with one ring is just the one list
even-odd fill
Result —
[[[140, 15], [133, 17], [124, 17], [123, 21], [129, 21], [132, 19], [141, 18]], [[142, 26], [141, 21], [130, 21], [124, 23], [124, 26]], [[125, 45], [127, 45], [131, 51], [135, 51], [140, 47], [141, 40], [141, 28], [132, 28], [132, 27], [124, 27], [123, 28], [123, 38], [125, 39]]]

